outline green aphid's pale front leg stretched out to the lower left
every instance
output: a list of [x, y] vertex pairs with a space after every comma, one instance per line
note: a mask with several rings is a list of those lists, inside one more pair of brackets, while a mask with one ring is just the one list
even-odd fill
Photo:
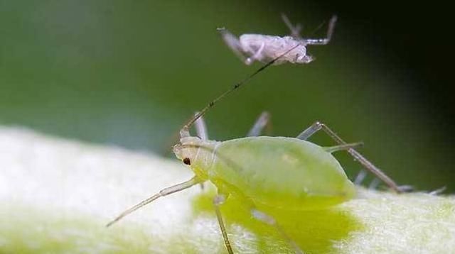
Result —
[[158, 194], [154, 194], [153, 196], [149, 197], [148, 199], [144, 199], [139, 204], [137, 204], [135, 206], [132, 206], [130, 209], [127, 209], [124, 212], [122, 212], [122, 214], [117, 216], [117, 218], [115, 218], [111, 222], [107, 223], [106, 226], [111, 226], [113, 223], [116, 223], [117, 221], [122, 219], [124, 216], [127, 216], [128, 214], [131, 214], [133, 211], [136, 211], [137, 209], [141, 208], [142, 206], [146, 206], [147, 204], [150, 204], [152, 201], [155, 201], [159, 197], [165, 197], [168, 194], [173, 194], [173, 193], [176, 193], [176, 192], [180, 192], [183, 189], [188, 189], [189, 187], [192, 187], [193, 185], [196, 185], [198, 183], [200, 183], [200, 180], [199, 180], [198, 177], [195, 176], [195, 177], [191, 178], [191, 180], [188, 180], [186, 182], [182, 182], [180, 184], [173, 185], [173, 186], [168, 187], [166, 189], [161, 189], [161, 191], [159, 191]]

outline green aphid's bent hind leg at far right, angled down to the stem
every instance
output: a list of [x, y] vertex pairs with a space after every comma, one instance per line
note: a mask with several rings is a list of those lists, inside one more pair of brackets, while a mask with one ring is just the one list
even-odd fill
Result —
[[[321, 123], [321, 122], [316, 122], [316, 123], [313, 123], [313, 125], [311, 125], [309, 128], [306, 128], [305, 131], [302, 131], [299, 136], [297, 136], [297, 138], [301, 139], [301, 140], [306, 140], [307, 138], [309, 138], [311, 135], [313, 135], [314, 133], [316, 133], [317, 131], [320, 131], [320, 130], [323, 130], [325, 133], [327, 133], [328, 136], [330, 136], [333, 140], [336, 141], [336, 143], [340, 144], [340, 145], [346, 145], [346, 142], [344, 142], [343, 139], [341, 139], [338, 135], [336, 135], [336, 133], [334, 133], [330, 128], [328, 128], [328, 126], [326, 126], [325, 124]], [[360, 162], [360, 164], [363, 165], [363, 167], [365, 167], [367, 170], [369, 170], [370, 172], [372, 172], [374, 175], [376, 175], [376, 177], [378, 177], [380, 180], [382, 180], [383, 182], [385, 182], [391, 189], [393, 189], [395, 192], [397, 193], [401, 193], [401, 189], [398, 187], [398, 185], [392, 180], [390, 179], [390, 177], [388, 177], [387, 175], [385, 175], [384, 172], [382, 172], [378, 167], [376, 167], [375, 165], [373, 165], [373, 163], [371, 163], [369, 160], [367, 160], [365, 157], [363, 157], [363, 155], [361, 155], [360, 153], [358, 153], [356, 150], [354, 150], [353, 148], [349, 148], [348, 149], [348, 153], [353, 156], [353, 158], [355, 160], [357, 160], [358, 162]]]

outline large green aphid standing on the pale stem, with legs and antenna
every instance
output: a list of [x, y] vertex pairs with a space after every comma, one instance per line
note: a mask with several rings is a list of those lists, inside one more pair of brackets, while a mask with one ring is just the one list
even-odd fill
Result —
[[[195, 175], [191, 180], [162, 189], [158, 194], [124, 211], [107, 226], [159, 197], [210, 181], [218, 189], [218, 194], [213, 197], [213, 204], [228, 253], [233, 251], [219, 206], [230, 196], [240, 199], [250, 210], [253, 218], [274, 226], [296, 253], [303, 253], [277, 221], [257, 209], [257, 206], [260, 204], [277, 209], [303, 211], [326, 209], [352, 199], [355, 195], [354, 184], [331, 153], [347, 150], [355, 160], [373, 172], [391, 189], [401, 192], [390, 177], [353, 149], [361, 143], [345, 143], [328, 126], [320, 122], [306, 128], [296, 138], [259, 136], [269, 120], [269, 114], [264, 112], [252, 126], [246, 138], [227, 141], [208, 140], [202, 118], [205, 112], [224, 96], [249, 81], [255, 74], [272, 65], [279, 57], [211, 101], [183, 126], [180, 131], [180, 142], [174, 145], [173, 153], [193, 170]], [[191, 136], [189, 129], [195, 123], [198, 136]], [[321, 147], [307, 141], [311, 135], [320, 130], [331, 136], [338, 145]]]

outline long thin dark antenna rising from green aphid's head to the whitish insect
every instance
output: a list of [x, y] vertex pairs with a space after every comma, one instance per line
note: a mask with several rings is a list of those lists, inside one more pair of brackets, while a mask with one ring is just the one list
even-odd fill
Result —
[[190, 119], [190, 121], [188, 121], [184, 126], [183, 128], [181, 129], [180, 131], [180, 134], [181, 136], [188, 136], [188, 130], [190, 129], [191, 126], [193, 126], [193, 123], [196, 122], [196, 120], [198, 120], [198, 118], [200, 118], [200, 116], [203, 116], [205, 114], [206, 111], [208, 111], [208, 109], [210, 109], [211, 107], [213, 107], [213, 105], [215, 105], [218, 101], [220, 101], [220, 99], [223, 99], [225, 96], [227, 96], [228, 94], [234, 92], [235, 90], [237, 90], [238, 88], [240, 88], [243, 84], [247, 83], [248, 81], [250, 81], [250, 79], [252, 79], [252, 77], [255, 77], [256, 74], [258, 74], [259, 72], [262, 72], [263, 70], [265, 70], [267, 67], [269, 67], [270, 65], [273, 65], [274, 62], [277, 62], [277, 60], [279, 60], [279, 58], [283, 57], [284, 55], [287, 55], [289, 52], [291, 52], [292, 50], [294, 50], [295, 48], [299, 47], [301, 44], [297, 44], [295, 45], [294, 47], [292, 47], [291, 49], [287, 50], [285, 53], [282, 53], [282, 55], [279, 55], [278, 57], [276, 57], [274, 60], [270, 61], [270, 62], [267, 62], [265, 65], [263, 65], [262, 67], [260, 67], [259, 69], [257, 69], [255, 72], [253, 72], [252, 74], [250, 74], [248, 77], [246, 77], [245, 79], [243, 79], [242, 81], [238, 82], [237, 84], [234, 84], [230, 89], [228, 89], [226, 92], [223, 92], [223, 94], [220, 94], [220, 96], [216, 97], [213, 101], [210, 101], [207, 106], [205, 106], [203, 109], [201, 109], [198, 114], [196, 114], [193, 118]]

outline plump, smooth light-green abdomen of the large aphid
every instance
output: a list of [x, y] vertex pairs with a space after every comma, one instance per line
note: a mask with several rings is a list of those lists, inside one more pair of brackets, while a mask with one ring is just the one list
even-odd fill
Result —
[[267, 206], [319, 209], [346, 201], [355, 192], [338, 161], [304, 140], [239, 138], [221, 143], [217, 154], [208, 169], [209, 179], [215, 185], [218, 179], [228, 182]]

